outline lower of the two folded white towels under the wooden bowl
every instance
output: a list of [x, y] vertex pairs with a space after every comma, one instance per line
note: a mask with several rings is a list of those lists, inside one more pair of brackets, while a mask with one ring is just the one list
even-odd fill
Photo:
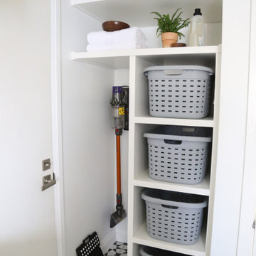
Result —
[[103, 44], [88, 44], [87, 51], [100, 51], [100, 50], [124, 50], [124, 49], [136, 49], [146, 48], [147, 44], [144, 42], [127, 42], [127, 43], [103, 43]]

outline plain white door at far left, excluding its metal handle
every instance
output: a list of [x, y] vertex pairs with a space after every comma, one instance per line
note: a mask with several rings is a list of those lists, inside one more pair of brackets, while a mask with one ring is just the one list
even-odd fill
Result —
[[0, 1], [0, 255], [56, 256], [50, 0]]

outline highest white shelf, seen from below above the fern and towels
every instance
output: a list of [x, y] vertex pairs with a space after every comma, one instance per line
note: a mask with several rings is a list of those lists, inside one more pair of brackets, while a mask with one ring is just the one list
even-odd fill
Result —
[[98, 21], [124, 21], [130, 26], [156, 26], [151, 11], [173, 14], [182, 8], [182, 18], [191, 18], [195, 8], [201, 8], [206, 23], [222, 22], [222, 0], [71, 0]]

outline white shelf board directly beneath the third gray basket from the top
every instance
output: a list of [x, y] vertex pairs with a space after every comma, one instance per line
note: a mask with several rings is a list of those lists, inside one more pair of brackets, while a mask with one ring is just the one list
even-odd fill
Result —
[[194, 245], [178, 245], [172, 242], [164, 242], [149, 237], [146, 233], [146, 222], [139, 228], [138, 232], [134, 235], [132, 242], [139, 245], [146, 245], [156, 247], [171, 252], [180, 252], [192, 256], [205, 256], [206, 255], [206, 230], [202, 230], [198, 241]]

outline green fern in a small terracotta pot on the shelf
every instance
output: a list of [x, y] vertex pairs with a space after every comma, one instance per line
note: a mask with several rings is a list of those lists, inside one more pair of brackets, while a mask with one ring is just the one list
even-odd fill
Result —
[[189, 18], [186, 20], [181, 18], [182, 11], [180, 10], [181, 8], [178, 8], [171, 17], [169, 14], [161, 15], [157, 11], [151, 12], [151, 14], [158, 16], [158, 18], [154, 18], [158, 23], [156, 36], [159, 37], [161, 35], [163, 47], [171, 47], [172, 43], [176, 43], [178, 38], [181, 39], [181, 36], [184, 36], [180, 30], [181, 28], [186, 28], [190, 21]]

